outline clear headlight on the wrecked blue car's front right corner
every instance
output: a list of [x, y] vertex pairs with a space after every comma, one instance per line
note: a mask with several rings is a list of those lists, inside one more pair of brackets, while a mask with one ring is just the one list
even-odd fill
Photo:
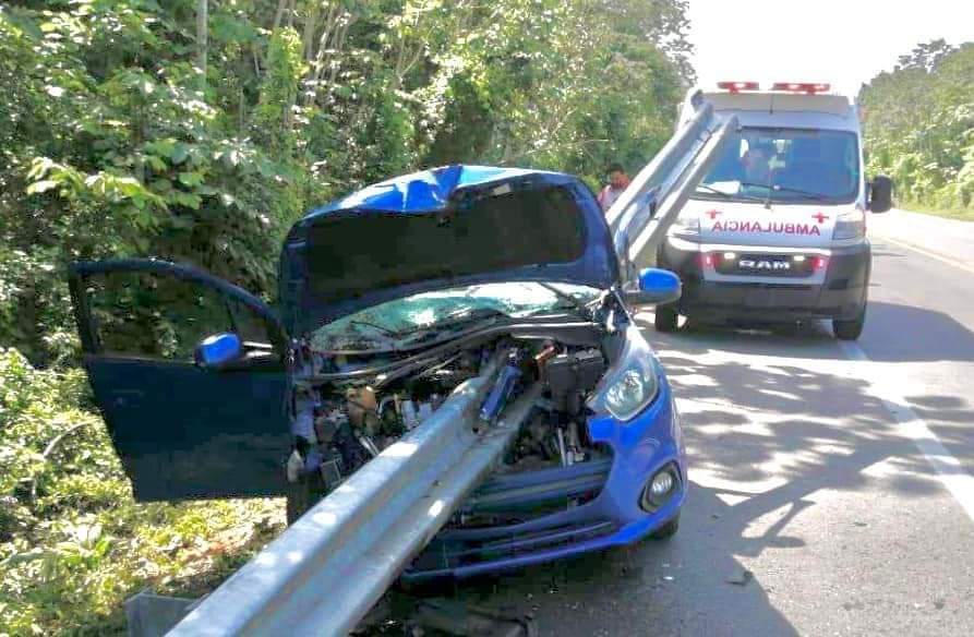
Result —
[[660, 390], [660, 370], [639, 329], [628, 327], [617, 363], [602, 378], [594, 406], [618, 420], [632, 420], [652, 402]]

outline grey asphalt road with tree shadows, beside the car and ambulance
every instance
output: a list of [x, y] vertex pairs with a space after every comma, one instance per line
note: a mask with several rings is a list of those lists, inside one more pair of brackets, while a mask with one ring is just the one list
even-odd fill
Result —
[[647, 327], [689, 446], [677, 536], [460, 597], [565, 637], [974, 634], [974, 241], [919, 225], [873, 221], [855, 345]]

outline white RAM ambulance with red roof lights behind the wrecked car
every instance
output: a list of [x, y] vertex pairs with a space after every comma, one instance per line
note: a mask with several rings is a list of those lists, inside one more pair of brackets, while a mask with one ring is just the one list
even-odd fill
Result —
[[719, 82], [687, 94], [738, 128], [660, 247], [680, 275], [678, 301], [657, 308], [660, 332], [690, 320], [768, 324], [831, 321], [858, 338], [871, 252], [868, 213], [891, 207], [892, 183], [867, 179], [856, 105], [829, 84]]

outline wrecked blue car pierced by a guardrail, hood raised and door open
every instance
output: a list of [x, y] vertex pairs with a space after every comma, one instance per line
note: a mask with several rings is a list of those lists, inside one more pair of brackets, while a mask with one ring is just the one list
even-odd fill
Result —
[[623, 281], [614, 244], [574, 177], [452, 166], [298, 221], [275, 310], [156, 260], [76, 263], [70, 284], [140, 501], [286, 495], [293, 520], [486, 360], [507, 358], [505, 397], [542, 383], [503, 462], [404, 574], [468, 577], [677, 530], [680, 419], [629, 307], [680, 283]]

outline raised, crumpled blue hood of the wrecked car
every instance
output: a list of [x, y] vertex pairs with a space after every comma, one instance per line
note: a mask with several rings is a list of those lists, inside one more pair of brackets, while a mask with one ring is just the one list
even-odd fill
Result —
[[312, 211], [281, 253], [293, 336], [365, 308], [454, 286], [618, 277], [609, 227], [577, 178], [449, 166], [370, 185]]

